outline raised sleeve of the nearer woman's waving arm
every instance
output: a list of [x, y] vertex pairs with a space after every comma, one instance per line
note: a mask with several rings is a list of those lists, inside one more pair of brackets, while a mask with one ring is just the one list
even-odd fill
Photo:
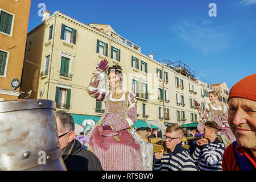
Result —
[[96, 98], [97, 101], [105, 102], [106, 101], [105, 98], [108, 96], [109, 90], [99, 88], [99, 84], [101, 80], [104, 81], [104, 73], [96, 69], [93, 72], [93, 77], [92, 77], [92, 80], [90, 80], [90, 84], [87, 90], [89, 95], [92, 96], [93, 98]]

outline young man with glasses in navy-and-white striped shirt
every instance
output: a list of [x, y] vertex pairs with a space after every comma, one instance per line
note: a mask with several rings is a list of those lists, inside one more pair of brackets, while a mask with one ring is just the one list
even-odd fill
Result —
[[188, 151], [182, 147], [183, 128], [172, 124], [166, 128], [166, 147], [168, 154], [164, 151], [155, 152], [154, 170], [160, 171], [196, 171], [196, 166]]

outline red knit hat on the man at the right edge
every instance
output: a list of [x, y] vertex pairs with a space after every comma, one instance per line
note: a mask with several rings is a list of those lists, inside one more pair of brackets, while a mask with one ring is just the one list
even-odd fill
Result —
[[256, 102], [256, 74], [242, 78], [234, 84], [230, 89], [228, 100], [231, 97], [247, 98]]

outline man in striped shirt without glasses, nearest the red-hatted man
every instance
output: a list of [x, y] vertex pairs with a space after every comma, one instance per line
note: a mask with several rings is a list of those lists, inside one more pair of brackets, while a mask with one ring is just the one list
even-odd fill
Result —
[[225, 151], [224, 143], [217, 137], [218, 125], [214, 121], [207, 121], [204, 125], [204, 139], [196, 141], [197, 147], [192, 154], [195, 163], [199, 163], [201, 171], [221, 171], [222, 156]]

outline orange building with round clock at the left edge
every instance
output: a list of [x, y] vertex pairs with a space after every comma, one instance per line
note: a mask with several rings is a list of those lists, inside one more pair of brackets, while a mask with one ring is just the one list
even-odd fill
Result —
[[0, 1], [0, 101], [20, 95], [30, 4], [29, 0]]

